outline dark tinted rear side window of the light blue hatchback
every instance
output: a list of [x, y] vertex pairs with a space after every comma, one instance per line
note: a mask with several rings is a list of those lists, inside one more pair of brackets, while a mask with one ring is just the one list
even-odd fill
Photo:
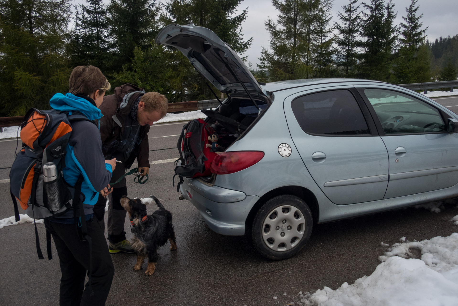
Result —
[[370, 134], [360, 106], [346, 89], [303, 95], [291, 102], [291, 108], [305, 133]]

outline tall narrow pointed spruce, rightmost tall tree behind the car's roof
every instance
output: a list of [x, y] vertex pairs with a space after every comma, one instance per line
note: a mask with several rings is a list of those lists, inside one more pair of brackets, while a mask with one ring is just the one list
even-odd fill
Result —
[[[420, 6], [416, 6], [417, 2], [418, 0], [411, 0], [410, 6], [406, 7], [407, 16], [402, 17], [404, 22], [401, 23], [400, 48], [396, 59], [396, 66], [394, 67], [394, 75], [397, 83], [416, 83], [414, 80], [419, 79], [419, 67], [422, 67], [421, 70], [424, 71], [427, 69], [425, 64], [429, 65], [429, 59], [426, 60], [423, 56], [419, 57], [419, 48], [424, 42], [427, 28], [421, 28], [423, 22], [420, 22], [420, 18], [423, 14], [417, 16], [417, 11], [420, 8]], [[423, 82], [428, 82], [431, 76], [427, 78], [424, 75], [420, 79], [424, 79]]]

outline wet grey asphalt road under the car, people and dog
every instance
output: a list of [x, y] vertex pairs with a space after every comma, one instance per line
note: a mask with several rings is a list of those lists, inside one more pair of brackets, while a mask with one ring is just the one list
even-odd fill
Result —
[[[458, 97], [436, 100], [458, 112]], [[151, 128], [150, 161], [178, 157], [175, 146], [182, 125]], [[1, 182], [8, 178], [16, 141], [1, 141], [0, 147], [0, 168], [5, 168], [0, 169]], [[337, 289], [370, 275], [380, 263], [378, 256], [387, 250], [381, 242], [392, 245], [403, 236], [412, 241], [458, 231], [448, 221], [458, 214], [454, 205], [439, 213], [408, 208], [315, 225], [308, 245], [297, 256], [269, 261], [245, 237], [214, 233], [190, 202], [178, 200], [172, 187], [173, 169], [172, 162], [153, 164], [147, 184], [128, 178], [128, 190], [131, 197], [153, 194], [163, 200], [173, 214], [178, 250], [161, 248], [151, 277], [144, 275], [146, 264], [142, 271], [132, 270], [135, 255], [112, 255], [115, 275], [106, 305], [297, 305], [299, 292], [323, 286]], [[155, 209], [148, 206], [149, 213]], [[13, 214], [9, 184], [0, 184], [0, 219]], [[129, 225], [126, 221], [131, 238]], [[38, 231], [44, 250], [44, 225], [38, 224]], [[0, 241], [1, 304], [58, 305], [60, 268], [54, 245], [53, 260], [38, 260], [31, 223], [0, 229]]]

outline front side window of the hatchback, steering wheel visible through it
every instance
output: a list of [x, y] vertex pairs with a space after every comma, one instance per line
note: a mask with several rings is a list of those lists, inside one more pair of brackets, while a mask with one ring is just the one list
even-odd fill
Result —
[[419, 99], [386, 89], [365, 89], [386, 134], [444, 132], [439, 111]]

